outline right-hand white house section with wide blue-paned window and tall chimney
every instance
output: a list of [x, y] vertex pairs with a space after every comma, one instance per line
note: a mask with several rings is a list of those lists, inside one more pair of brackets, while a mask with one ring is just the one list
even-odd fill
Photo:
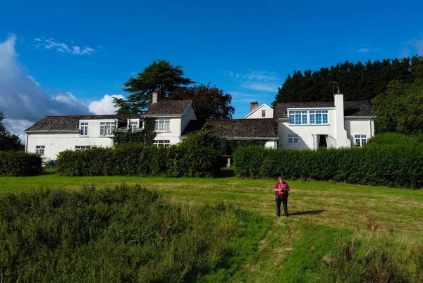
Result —
[[318, 149], [362, 146], [374, 136], [374, 112], [368, 101], [274, 103], [278, 147]]

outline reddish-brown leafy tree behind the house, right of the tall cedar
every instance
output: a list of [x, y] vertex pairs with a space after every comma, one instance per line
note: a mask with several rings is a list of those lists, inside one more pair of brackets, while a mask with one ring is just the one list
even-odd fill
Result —
[[192, 99], [199, 120], [230, 119], [235, 112], [231, 106], [231, 94], [223, 93], [222, 89], [212, 87], [210, 83], [180, 87], [169, 94], [169, 99]]

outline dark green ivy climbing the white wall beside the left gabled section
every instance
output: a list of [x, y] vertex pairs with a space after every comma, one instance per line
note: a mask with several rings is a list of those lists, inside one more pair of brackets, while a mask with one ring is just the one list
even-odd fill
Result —
[[154, 132], [154, 118], [144, 119], [144, 128], [141, 131], [114, 131], [111, 137], [114, 146], [121, 144], [145, 144], [152, 145], [157, 133]]

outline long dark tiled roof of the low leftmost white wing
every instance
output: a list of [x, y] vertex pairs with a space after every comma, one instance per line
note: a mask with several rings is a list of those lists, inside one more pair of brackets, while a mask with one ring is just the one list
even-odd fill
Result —
[[[78, 116], [46, 116], [25, 131], [78, 131], [80, 120], [119, 119], [126, 125], [127, 119], [141, 118], [137, 114], [127, 115], [78, 115]], [[123, 127], [119, 125], [120, 127]]]

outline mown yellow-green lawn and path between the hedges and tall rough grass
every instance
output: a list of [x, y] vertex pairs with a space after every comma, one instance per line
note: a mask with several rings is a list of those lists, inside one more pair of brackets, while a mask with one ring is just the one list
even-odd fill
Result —
[[[300, 265], [302, 282], [319, 282], [316, 277], [309, 277], [314, 263], [307, 263], [307, 252], [316, 249], [326, 252], [327, 241], [369, 229], [422, 243], [423, 190], [287, 180], [291, 187], [289, 218], [276, 217], [273, 192], [276, 180], [61, 177], [44, 172], [37, 177], [0, 177], [0, 191], [80, 189], [82, 184], [92, 183], [102, 189], [121, 182], [156, 189], [177, 201], [233, 203], [271, 220], [271, 228], [257, 244], [257, 252], [234, 275], [234, 282], [290, 282], [290, 272], [295, 270], [296, 263]], [[305, 251], [299, 252], [302, 249]]]

